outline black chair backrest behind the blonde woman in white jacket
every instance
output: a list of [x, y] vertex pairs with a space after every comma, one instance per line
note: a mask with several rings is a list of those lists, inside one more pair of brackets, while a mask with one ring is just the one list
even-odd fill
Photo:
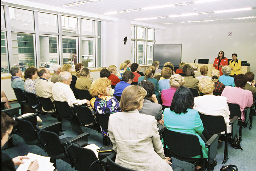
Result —
[[227, 134], [227, 124], [223, 116], [204, 115], [198, 112], [204, 128], [210, 134], [219, 134], [223, 131]]

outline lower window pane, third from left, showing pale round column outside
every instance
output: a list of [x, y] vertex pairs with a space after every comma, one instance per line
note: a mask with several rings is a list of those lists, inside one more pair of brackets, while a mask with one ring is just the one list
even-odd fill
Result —
[[39, 41], [41, 66], [52, 67], [53, 64], [58, 64], [58, 36], [40, 35]]

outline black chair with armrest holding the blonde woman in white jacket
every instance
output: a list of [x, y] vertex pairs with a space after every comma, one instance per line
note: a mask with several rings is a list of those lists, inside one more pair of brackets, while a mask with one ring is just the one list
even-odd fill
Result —
[[[228, 142], [231, 144], [234, 142], [234, 138], [237, 132], [237, 123], [238, 117], [234, 116], [230, 121], [229, 125], [232, 126], [231, 133], [227, 133], [227, 124], [225, 123], [223, 116], [211, 116], [204, 115], [198, 112], [203, 123], [204, 128], [209, 132], [209, 134], [219, 134], [220, 140], [225, 141], [225, 149], [224, 149], [224, 159], [222, 164], [225, 164], [228, 161]], [[220, 134], [225, 131], [225, 134]]]

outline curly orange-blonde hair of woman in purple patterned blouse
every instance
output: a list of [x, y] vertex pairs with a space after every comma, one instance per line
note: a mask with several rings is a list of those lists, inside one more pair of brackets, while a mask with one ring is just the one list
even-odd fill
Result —
[[111, 85], [111, 81], [107, 78], [98, 78], [95, 81], [93, 81], [91, 88], [90, 88], [90, 94], [92, 97], [96, 97], [99, 95], [107, 96], [106, 88]]

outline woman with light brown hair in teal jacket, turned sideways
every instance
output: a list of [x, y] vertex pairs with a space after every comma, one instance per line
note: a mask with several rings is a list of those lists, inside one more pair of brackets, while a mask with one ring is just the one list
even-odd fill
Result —
[[153, 78], [153, 75], [154, 75], [154, 73], [155, 73], [155, 70], [156, 70], [155, 66], [150, 66], [148, 69], [146, 69], [146, 71], [145, 71], [145, 76], [140, 76], [140, 77], [138, 78], [138, 83], [141, 82], [141, 81], [144, 81], [144, 80], [153, 82], [154, 85], [155, 85], [155, 91], [154, 91], [154, 93], [155, 93], [155, 95], [156, 95], [156, 97], [157, 97], [157, 100], [158, 100], [158, 102], [159, 102], [159, 101], [160, 101], [160, 100], [159, 100], [159, 96], [160, 96], [160, 93], [159, 93], [159, 84], [158, 84], [158, 80], [155, 79], [155, 78]]

